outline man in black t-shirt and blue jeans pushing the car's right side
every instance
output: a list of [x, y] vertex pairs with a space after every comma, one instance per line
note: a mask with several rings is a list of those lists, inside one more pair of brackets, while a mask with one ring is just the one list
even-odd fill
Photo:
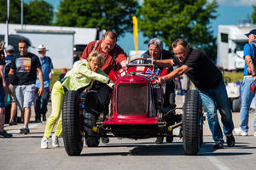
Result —
[[154, 63], [159, 66], [180, 66], [166, 76], [159, 77], [157, 82], [163, 83], [175, 77], [180, 77], [185, 73], [191, 82], [195, 84], [202, 103], [206, 107], [207, 121], [212, 132], [212, 139], [215, 142], [213, 148], [224, 148], [223, 133], [218, 123], [217, 109], [221, 115], [226, 142], [228, 146], [234, 146], [236, 142], [232, 134], [234, 124], [230, 101], [223, 76], [218, 67], [213, 65], [212, 61], [201, 50], [189, 48], [188, 42], [183, 39], [177, 39], [172, 42], [172, 49], [175, 54], [174, 59], [154, 60]]

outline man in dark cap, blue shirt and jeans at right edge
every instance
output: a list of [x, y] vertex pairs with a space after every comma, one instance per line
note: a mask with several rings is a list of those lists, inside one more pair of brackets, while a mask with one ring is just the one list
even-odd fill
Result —
[[[241, 122], [240, 127], [235, 128], [235, 133], [241, 136], [248, 135], [248, 121], [249, 121], [249, 110], [255, 93], [251, 91], [251, 86], [256, 82], [256, 57], [255, 57], [255, 47], [256, 47], [256, 29], [250, 31], [246, 34], [248, 37], [248, 43], [245, 44], [243, 49], [243, 56], [246, 60], [243, 71], [243, 80], [241, 82]], [[256, 136], [256, 118], [253, 123], [254, 136]]]

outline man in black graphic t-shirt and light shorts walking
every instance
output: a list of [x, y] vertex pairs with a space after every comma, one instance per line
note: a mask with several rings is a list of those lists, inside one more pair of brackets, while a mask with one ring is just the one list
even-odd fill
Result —
[[32, 100], [36, 90], [37, 72], [41, 84], [38, 89], [39, 96], [43, 94], [44, 79], [38, 57], [27, 52], [28, 42], [21, 39], [18, 42], [18, 47], [20, 54], [12, 59], [7, 86], [9, 87], [9, 83], [12, 82], [15, 75], [17, 77], [14, 82], [17, 104], [21, 113], [24, 113], [24, 126], [20, 128], [20, 133], [27, 134], [29, 133], [28, 122], [30, 120]]

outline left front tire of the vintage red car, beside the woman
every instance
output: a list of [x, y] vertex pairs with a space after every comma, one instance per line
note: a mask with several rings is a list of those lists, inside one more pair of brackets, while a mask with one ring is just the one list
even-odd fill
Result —
[[63, 141], [68, 156], [79, 156], [83, 150], [83, 115], [79, 115], [79, 94], [67, 91], [62, 106]]

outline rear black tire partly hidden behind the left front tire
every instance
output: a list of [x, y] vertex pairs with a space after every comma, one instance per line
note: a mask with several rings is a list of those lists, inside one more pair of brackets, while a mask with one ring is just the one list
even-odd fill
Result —
[[97, 113], [93, 111], [99, 111], [99, 106], [97, 105], [97, 93], [95, 91], [90, 91], [86, 94], [85, 98], [85, 113], [84, 113], [84, 124], [89, 127], [84, 126], [85, 130], [85, 144], [88, 147], [96, 147], [100, 143], [100, 138], [97, 137], [97, 133], [93, 132], [90, 127], [96, 126]]

